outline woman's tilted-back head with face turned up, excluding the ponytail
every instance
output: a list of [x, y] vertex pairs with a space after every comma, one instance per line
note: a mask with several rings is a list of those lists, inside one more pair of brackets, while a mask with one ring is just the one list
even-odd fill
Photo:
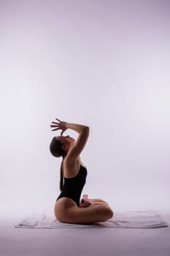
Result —
[[75, 140], [68, 136], [54, 137], [50, 143], [50, 152], [54, 157], [66, 157]]

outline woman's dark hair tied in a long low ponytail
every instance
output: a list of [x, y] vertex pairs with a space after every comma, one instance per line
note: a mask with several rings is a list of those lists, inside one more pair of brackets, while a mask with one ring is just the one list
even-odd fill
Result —
[[[63, 143], [58, 140], [56, 137], [50, 143], [50, 152], [54, 157], [66, 157], [66, 152], [62, 148]], [[60, 180], [60, 190], [63, 190], [63, 160], [61, 162], [61, 180]]]

